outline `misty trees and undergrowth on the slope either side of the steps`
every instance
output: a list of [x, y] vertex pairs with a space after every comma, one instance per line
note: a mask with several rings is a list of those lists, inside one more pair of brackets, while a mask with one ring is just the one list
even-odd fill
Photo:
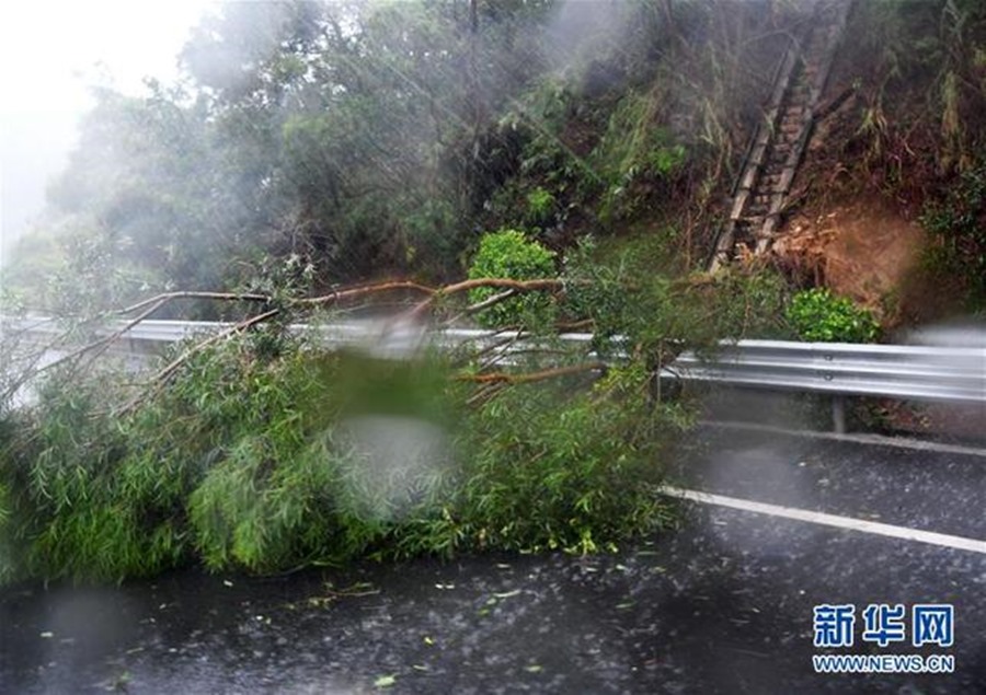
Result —
[[[49, 306], [72, 280], [39, 289], [38, 269], [90, 277], [92, 299], [117, 303], [248, 287], [276, 258], [309, 268], [316, 290], [445, 280], [486, 231], [561, 250], [644, 219], [668, 221], [698, 258], [802, 4], [219, 5], [179, 57], [181, 84], [99, 92], [48, 222], [16, 254], [27, 269], [8, 275]], [[982, 7], [865, 4], [844, 149], [875, 173], [924, 158], [974, 167]]]

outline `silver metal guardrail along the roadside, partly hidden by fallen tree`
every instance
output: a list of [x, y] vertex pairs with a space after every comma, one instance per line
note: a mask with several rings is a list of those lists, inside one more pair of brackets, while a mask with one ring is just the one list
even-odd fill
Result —
[[[98, 331], [111, 335], [126, 324], [116, 322]], [[153, 346], [196, 334], [216, 333], [229, 323], [145, 321], [121, 339], [130, 351], [152, 351]], [[7, 320], [4, 329], [35, 335], [60, 332], [46, 318]], [[386, 357], [401, 357], [432, 345], [439, 349], [474, 345], [508, 361], [514, 350], [530, 347], [535, 338], [516, 332], [448, 328], [426, 332], [423, 326], [397, 321], [354, 321], [311, 327], [295, 324], [298, 332], [314, 331], [325, 345], [364, 346]], [[588, 347], [592, 334], [559, 336], [565, 343]], [[619, 337], [616, 338], [619, 341]], [[617, 357], [621, 355], [616, 351]], [[919, 345], [857, 345], [842, 343], [789, 343], [741, 340], [725, 343], [709, 356], [684, 352], [663, 377], [756, 389], [801, 391], [835, 396], [836, 429], [845, 429], [842, 396], [884, 396], [901, 399], [949, 401], [986, 406], [986, 344], [966, 347]]]

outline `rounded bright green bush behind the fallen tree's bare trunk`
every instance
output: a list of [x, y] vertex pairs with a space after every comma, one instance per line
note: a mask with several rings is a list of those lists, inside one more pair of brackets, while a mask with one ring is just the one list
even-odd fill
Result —
[[[554, 252], [536, 241], [529, 241], [524, 232], [512, 229], [485, 234], [469, 267], [470, 279], [532, 280], [555, 275]], [[477, 288], [469, 292], [469, 301], [482, 302], [502, 291], [489, 287]], [[537, 328], [550, 322], [550, 309], [549, 298], [531, 293], [494, 304], [482, 311], [477, 318], [491, 328], [515, 325]]]

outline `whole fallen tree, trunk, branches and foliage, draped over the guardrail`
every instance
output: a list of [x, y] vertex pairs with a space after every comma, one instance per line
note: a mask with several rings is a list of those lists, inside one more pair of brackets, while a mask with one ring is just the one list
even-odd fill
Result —
[[[529, 257], [531, 242], [503, 239]], [[484, 286], [497, 293], [462, 302]], [[268, 298], [220, 339], [179, 345], [136, 381], [85, 350], [37, 374], [38, 402], [0, 418], [5, 579], [615, 547], [672, 519], [656, 495], [662, 456], [692, 410], [662, 397], [662, 367], [681, 349], [764, 328], [750, 322], [781, 297], [745, 276], [628, 278], [587, 251], [561, 279], [419, 289], [429, 296], [409, 315], [427, 308], [440, 325], [488, 313], [536, 340], [506, 362], [482, 346], [408, 361], [331, 352], [287, 331], [316, 300]], [[573, 323], [592, 327], [595, 344], [553, 337]], [[626, 357], [603, 368], [616, 351]]]

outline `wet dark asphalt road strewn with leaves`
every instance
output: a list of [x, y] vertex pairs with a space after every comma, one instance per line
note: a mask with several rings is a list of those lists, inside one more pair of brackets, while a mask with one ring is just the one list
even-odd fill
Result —
[[[986, 540], [986, 456], [720, 428], [672, 482]], [[0, 594], [2, 693], [986, 693], [986, 555], [686, 505], [618, 555]], [[817, 675], [819, 603], [952, 603], [938, 675]], [[880, 653], [861, 645], [853, 653]]]

